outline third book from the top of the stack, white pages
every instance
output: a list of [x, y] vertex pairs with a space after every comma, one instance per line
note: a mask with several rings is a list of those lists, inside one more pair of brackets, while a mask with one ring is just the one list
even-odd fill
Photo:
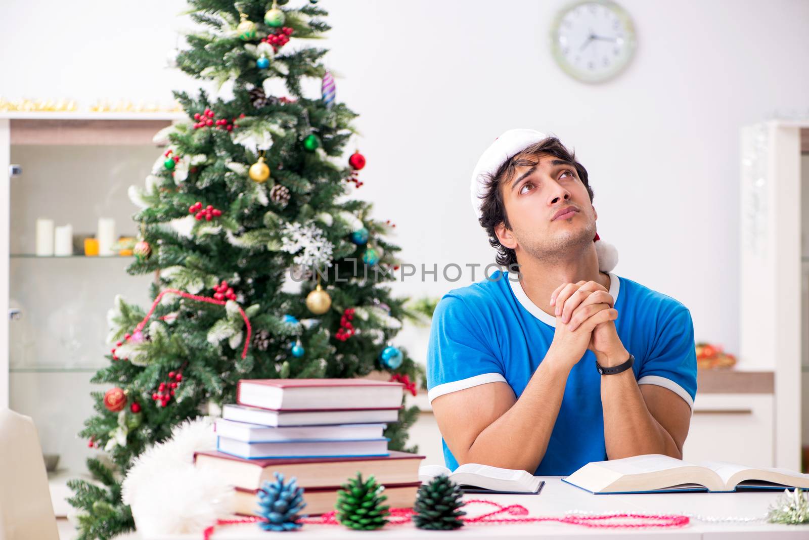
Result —
[[243, 442], [269, 441], [338, 441], [379, 439], [385, 424], [337, 424], [313, 426], [282, 426], [272, 428], [261, 424], [216, 419], [216, 434]]

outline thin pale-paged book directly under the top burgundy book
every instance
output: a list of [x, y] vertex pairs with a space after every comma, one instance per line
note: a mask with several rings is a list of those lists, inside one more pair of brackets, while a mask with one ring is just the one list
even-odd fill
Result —
[[399, 409], [364, 409], [362, 411], [271, 411], [247, 405], [225, 405], [222, 418], [265, 426], [319, 424], [392, 424], [399, 421]]

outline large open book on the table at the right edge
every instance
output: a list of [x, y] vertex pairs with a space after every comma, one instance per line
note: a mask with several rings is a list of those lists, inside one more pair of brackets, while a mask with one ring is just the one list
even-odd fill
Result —
[[661, 454], [591, 462], [563, 482], [595, 494], [809, 488], [809, 475], [726, 462], [684, 462]]

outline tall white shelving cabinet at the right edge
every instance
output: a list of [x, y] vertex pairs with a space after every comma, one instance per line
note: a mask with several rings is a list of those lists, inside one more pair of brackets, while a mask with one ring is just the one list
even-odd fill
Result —
[[809, 444], [809, 120], [741, 132], [739, 369], [774, 373], [773, 465]]

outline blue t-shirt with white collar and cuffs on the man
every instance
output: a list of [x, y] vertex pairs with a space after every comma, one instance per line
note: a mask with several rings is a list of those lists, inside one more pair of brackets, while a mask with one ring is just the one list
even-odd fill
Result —
[[[663, 386], [693, 409], [697, 355], [691, 312], [672, 297], [609, 272], [618, 337], [635, 356], [637, 384]], [[516, 280], [515, 276], [512, 279]], [[489, 382], [523, 390], [553, 342], [556, 318], [546, 314], [508, 272], [445, 294], [433, 314], [427, 352], [430, 403], [439, 395]], [[570, 370], [548, 449], [535, 475], [570, 475], [607, 459], [601, 375], [587, 350]], [[450, 470], [458, 462], [443, 440]]]

